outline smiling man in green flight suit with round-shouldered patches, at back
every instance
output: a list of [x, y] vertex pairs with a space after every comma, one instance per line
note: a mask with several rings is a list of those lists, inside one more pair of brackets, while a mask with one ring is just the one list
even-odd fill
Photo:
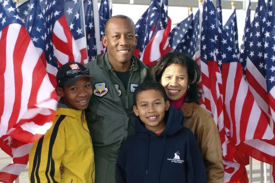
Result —
[[95, 182], [114, 183], [121, 146], [135, 133], [133, 92], [150, 76], [148, 67], [133, 56], [137, 36], [129, 17], [108, 19], [102, 42], [107, 53], [85, 64], [95, 79], [91, 80], [93, 96], [85, 114], [95, 154]]

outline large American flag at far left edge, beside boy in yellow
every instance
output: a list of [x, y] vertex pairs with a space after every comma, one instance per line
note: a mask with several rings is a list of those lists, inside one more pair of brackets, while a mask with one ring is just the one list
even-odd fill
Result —
[[28, 163], [30, 143], [52, 126], [57, 96], [11, 0], [0, 0], [0, 47], [0, 147], [13, 158], [0, 181], [11, 183]]

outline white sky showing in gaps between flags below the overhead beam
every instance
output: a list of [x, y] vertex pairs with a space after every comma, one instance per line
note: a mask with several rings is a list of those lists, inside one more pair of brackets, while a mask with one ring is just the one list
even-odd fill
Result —
[[[113, 4], [113, 16], [123, 14], [130, 17], [134, 23], [141, 17], [144, 11], [148, 8], [148, 5], [133, 5], [133, 4]], [[197, 12], [198, 8], [193, 8], [193, 13]], [[225, 24], [233, 13], [232, 9], [222, 9], [223, 24]], [[251, 11], [251, 22], [254, 18], [255, 11]], [[183, 19], [188, 17], [187, 7], [174, 7], [168, 6], [168, 16], [172, 20], [172, 28], [176, 26], [177, 23], [181, 22]], [[246, 10], [236, 10], [237, 25], [238, 25], [238, 36], [239, 36], [239, 46], [241, 46], [241, 41], [243, 37], [243, 28], [245, 25]]]

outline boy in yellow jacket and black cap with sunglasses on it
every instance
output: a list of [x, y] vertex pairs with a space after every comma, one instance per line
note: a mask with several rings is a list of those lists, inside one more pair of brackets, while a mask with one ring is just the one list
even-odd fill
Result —
[[[84, 113], [93, 94], [89, 72], [76, 62], [58, 70], [56, 92], [61, 99], [52, 127], [30, 152], [31, 183], [95, 182], [93, 144]], [[60, 167], [64, 167], [62, 179]]]

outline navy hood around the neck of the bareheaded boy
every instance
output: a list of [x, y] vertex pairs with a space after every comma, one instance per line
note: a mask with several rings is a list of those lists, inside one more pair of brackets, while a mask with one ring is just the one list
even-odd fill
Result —
[[[182, 125], [184, 122], [183, 112], [181, 110], [174, 108], [173, 106], [170, 106], [169, 110], [165, 112], [164, 122], [165, 122], [165, 129], [162, 131], [162, 134], [165, 133], [169, 136], [176, 134], [178, 131], [182, 129]], [[145, 125], [140, 120], [139, 116], [137, 116], [137, 118], [135, 119], [135, 130], [141, 133], [148, 132], [150, 134], [152, 133], [155, 134], [151, 130], [147, 130], [145, 128]]]

